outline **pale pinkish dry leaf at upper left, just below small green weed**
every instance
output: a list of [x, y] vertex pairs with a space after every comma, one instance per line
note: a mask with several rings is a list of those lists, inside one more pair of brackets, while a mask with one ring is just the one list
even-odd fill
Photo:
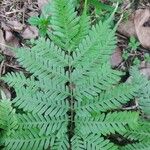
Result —
[[22, 32], [21, 36], [24, 39], [33, 39], [38, 37], [38, 28], [33, 26], [27, 26]]

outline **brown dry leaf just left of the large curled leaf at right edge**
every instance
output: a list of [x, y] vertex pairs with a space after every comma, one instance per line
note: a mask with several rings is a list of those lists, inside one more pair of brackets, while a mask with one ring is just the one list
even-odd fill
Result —
[[127, 37], [136, 36], [134, 17], [131, 16], [128, 20], [121, 22], [118, 31]]

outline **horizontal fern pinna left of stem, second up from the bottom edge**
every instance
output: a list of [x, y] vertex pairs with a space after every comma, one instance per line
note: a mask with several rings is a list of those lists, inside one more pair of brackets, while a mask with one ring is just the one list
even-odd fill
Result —
[[57, 137], [61, 137], [67, 132], [67, 116], [50, 117], [28, 113], [17, 117], [19, 128], [28, 129], [31, 133], [33, 128], [37, 128], [40, 136], [55, 134]]

